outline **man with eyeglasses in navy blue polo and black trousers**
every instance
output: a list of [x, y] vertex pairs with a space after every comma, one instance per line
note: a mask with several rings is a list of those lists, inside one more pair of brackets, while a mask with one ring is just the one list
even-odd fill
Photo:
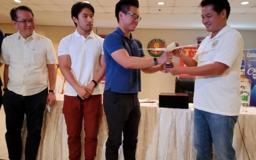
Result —
[[104, 111], [109, 127], [105, 158], [118, 159], [118, 148], [122, 145], [125, 159], [135, 159], [139, 119], [141, 110], [138, 92], [141, 91], [141, 73], [163, 70], [172, 54], [163, 53], [159, 58], [145, 58], [142, 44], [134, 39], [131, 31], [136, 30], [141, 17], [139, 1], [121, 0], [115, 6], [118, 27], [104, 40], [105, 89]]

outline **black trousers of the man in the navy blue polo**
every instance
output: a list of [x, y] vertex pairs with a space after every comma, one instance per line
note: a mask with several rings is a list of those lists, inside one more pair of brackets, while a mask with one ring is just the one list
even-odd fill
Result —
[[118, 149], [122, 145], [125, 160], [134, 160], [137, 146], [137, 136], [141, 110], [138, 94], [119, 94], [104, 91], [103, 105], [109, 137], [106, 142], [105, 158], [118, 159]]

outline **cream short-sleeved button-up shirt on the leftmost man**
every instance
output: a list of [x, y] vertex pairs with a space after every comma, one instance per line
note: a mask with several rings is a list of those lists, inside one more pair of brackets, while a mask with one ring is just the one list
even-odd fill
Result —
[[56, 53], [51, 40], [35, 31], [27, 39], [15, 33], [2, 41], [1, 63], [9, 65], [9, 90], [34, 95], [48, 86], [47, 64], [56, 63]]

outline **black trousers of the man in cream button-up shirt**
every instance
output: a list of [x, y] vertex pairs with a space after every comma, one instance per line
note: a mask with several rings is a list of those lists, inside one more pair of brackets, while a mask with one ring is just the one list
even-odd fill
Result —
[[24, 114], [27, 116], [27, 139], [25, 144], [25, 159], [36, 159], [41, 140], [41, 127], [46, 107], [48, 89], [35, 95], [22, 96], [7, 90], [2, 97], [6, 113], [6, 143], [10, 160], [22, 158], [21, 130]]

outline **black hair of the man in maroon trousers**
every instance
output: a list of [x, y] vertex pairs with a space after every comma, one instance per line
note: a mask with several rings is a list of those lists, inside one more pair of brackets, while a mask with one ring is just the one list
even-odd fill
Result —
[[[75, 17], [76, 19], [78, 19], [78, 14], [80, 14], [81, 10], [84, 8], [90, 9], [94, 15], [94, 8], [93, 8], [93, 6], [91, 6], [91, 4], [86, 3], [86, 2], [76, 2], [71, 8], [71, 18]], [[77, 26], [76, 23], [75, 23], [75, 26]]]

